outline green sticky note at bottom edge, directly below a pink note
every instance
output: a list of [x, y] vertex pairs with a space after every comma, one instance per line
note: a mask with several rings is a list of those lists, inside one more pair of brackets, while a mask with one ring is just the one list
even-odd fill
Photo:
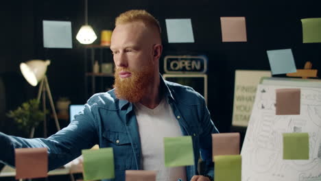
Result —
[[214, 156], [215, 181], [241, 181], [241, 155]]

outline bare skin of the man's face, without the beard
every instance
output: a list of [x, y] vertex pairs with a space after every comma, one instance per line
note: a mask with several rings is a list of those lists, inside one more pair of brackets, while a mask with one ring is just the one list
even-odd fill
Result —
[[[116, 68], [139, 71], [141, 67], [152, 66], [153, 45], [149, 36], [152, 32], [141, 22], [117, 25], [110, 45]], [[119, 76], [130, 77], [130, 72], [120, 73]]]

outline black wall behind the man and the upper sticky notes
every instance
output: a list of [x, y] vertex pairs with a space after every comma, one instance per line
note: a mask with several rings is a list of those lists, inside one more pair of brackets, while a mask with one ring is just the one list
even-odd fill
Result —
[[[199, 55], [209, 58], [209, 110], [221, 132], [228, 132], [233, 111], [236, 69], [269, 70], [266, 50], [292, 48], [297, 68], [306, 61], [321, 67], [321, 44], [303, 44], [300, 19], [321, 17], [320, 1], [88, 1], [88, 23], [98, 36], [102, 29], [113, 29], [114, 19], [130, 9], [145, 9], [160, 21], [163, 29], [163, 57]], [[246, 16], [248, 42], [222, 43], [220, 16]], [[75, 35], [84, 23], [84, 1], [8, 1], [1, 5], [0, 18], [5, 34], [1, 41], [0, 73], [21, 77], [19, 63], [50, 59], [48, 79], [53, 99], [70, 97], [84, 102], [84, 48]], [[195, 43], [167, 43], [165, 19], [191, 18]], [[71, 21], [73, 49], [43, 48], [42, 21]], [[162, 57], [162, 60], [163, 60]], [[163, 66], [160, 66], [163, 67]], [[163, 70], [161, 70], [163, 72]], [[37, 88], [25, 84], [21, 94], [7, 93], [19, 104], [36, 96]], [[23, 100], [24, 99], [24, 100]]]

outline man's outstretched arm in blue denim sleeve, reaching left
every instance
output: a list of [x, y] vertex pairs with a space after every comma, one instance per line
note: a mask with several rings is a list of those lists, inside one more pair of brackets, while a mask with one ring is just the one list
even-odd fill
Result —
[[14, 166], [14, 149], [23, 147], [47, 147], [49, 170], [56, 169], [81, 154], [82, 149], [97, 144], [95, 115], [92, 107], [85, 105], [84, 111], [75, 116], [67, 128], [49, 138], [21, 138], [0, 132], [0, 161]]

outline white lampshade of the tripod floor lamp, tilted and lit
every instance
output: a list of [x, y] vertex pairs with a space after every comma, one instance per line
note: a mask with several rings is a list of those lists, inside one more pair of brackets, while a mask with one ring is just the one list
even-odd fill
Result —
[[20, 71], [25, 80], [32, 86], [36, 86], [43, 79], [50, 60], [29, 60], [20, 64]]

